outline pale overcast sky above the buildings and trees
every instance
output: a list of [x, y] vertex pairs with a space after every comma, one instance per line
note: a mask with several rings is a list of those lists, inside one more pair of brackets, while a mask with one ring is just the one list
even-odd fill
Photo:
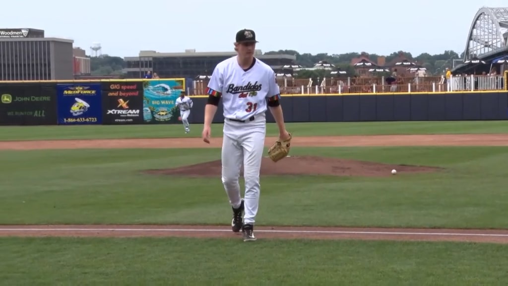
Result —
[[[309, 6], [309, 4], [311, 6]], [[418, 55], [464, 50], [469, 27], [481, 6], [508, 7], [506, 0], [459, 1], [62, 1], [2, 3], [3, 28], [40, 28], [46, 37], [74, 40], [90, 54], [136, 56], [160, 52], [232, 51], [235, 34], [251, 28], [263, 52]]]

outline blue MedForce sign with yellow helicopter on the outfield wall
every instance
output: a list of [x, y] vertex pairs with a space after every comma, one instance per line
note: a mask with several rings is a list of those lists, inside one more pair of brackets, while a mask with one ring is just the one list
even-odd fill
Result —
[[58, 124], [102, 124], [100, 83], [57, 84]]

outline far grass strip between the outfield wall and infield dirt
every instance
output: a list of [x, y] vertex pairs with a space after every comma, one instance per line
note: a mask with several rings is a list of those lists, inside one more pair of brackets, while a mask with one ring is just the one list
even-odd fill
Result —
[[[182, 125], [82, 125], [82, 126], [3, 126], [0, 141], [42, 139], [104, 139], [201, 137], [203, 125], [191, 124], [184, 134]], [[386, 134], [465, 134], [508, 133], [506, 121], [422, 121], [422, 122], [350, 122], [288, 123], [296, 136], [386, 135]], [[223, 125], [214, 124], [212, 136], [222, 136]], [[277, 135], [275, 124], [268, 124], [267, 135]]]

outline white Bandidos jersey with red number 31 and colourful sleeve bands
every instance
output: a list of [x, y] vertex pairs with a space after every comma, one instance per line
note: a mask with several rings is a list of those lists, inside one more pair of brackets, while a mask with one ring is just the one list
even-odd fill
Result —
[[280, 91], [272, 68], [255, 58], [243, 70], [233, 56], [217, 64], [208, 83], [208, 94], [222, 97], [224, 117], [247, 120], [267, 110], [266, 99], [279, 99]]

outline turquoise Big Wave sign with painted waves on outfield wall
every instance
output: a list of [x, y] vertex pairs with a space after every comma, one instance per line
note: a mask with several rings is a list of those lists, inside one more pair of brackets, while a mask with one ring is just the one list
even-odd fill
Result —
[[143, 116], [146, 124], [179, 123], [176, 99], [185, 87], [184, 79], [145, 80]]

